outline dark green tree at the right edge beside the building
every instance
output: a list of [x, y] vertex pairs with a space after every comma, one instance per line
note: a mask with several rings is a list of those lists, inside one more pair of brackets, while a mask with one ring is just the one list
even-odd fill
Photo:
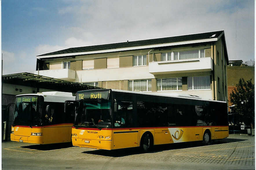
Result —
[[232, 113], [236, 115], [234, 124], [239, 125], [244, 122], [245, 125], [254, 125], [255, 119], [255, 99], [254, 99], [254, 84], [252, 79], [244, 81], [240, 79], [236, 88], [230, 93], [230, 101], [233, 103], [231, 108]]

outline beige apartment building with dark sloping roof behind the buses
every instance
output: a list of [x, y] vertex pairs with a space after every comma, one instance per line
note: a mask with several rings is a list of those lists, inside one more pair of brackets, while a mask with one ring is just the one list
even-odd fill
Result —
[[35, 74], [102, 88], [227, 101], [224, 31], [75, 47], [36, 57]]

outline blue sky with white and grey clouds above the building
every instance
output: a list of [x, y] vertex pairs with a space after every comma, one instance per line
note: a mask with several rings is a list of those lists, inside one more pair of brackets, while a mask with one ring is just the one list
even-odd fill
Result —
[[254, 0], [2, 0], [3, 75], [48, 52], [224, 30], [229, 60], [254, 60]]

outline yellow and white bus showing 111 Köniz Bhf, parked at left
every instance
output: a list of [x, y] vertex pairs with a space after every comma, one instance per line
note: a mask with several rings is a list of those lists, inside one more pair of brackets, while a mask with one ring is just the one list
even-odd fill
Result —
[[17, 95], [11, 141], [38, 144], [71, 142], [74, 112], [72, 114], [70, 109], [64, 112], [66, 100], [72, 104], [75, 97], [72, 93], [56, 91]]

